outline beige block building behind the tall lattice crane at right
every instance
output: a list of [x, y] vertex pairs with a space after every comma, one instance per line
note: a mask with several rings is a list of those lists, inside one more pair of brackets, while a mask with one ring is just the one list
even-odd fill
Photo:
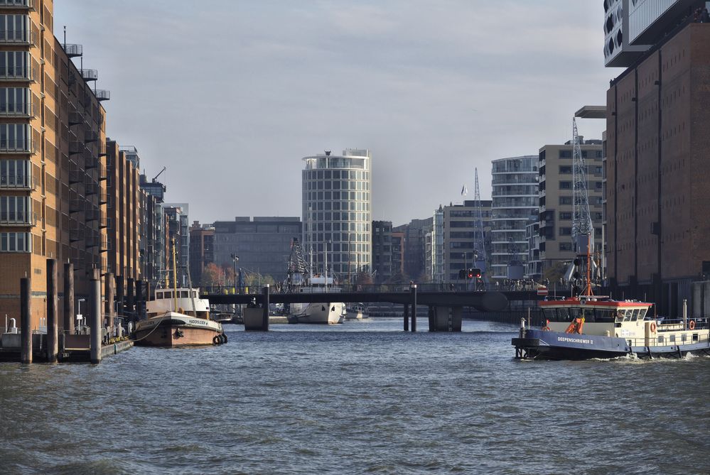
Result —
[[[586, 160], [589, 212], [594, 225], [596, 249], [601, 249], [603, 200], [603, 147], [601, 140], [579, 138]], [[574, 260], [572, 243], [573, 144], [548, 144], [539, 151], [539, 261], [535, 274], [557, 280]], [[532, 251], [532, 250], [531, 250]]]

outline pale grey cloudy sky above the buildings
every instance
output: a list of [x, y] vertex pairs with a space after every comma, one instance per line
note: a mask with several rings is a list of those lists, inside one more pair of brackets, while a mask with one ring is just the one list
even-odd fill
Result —
[[[491, 160], [606, 103], [601, 1], [55, 0], [108, 89], [107, 136], [190, 221], [300, 216], [302, 158], [372, 153], [372, 219], [490, 199]], [[80, 66], [80, 60], [75, 60]], [[604, 121], [579, 133], [601, 138]]]

